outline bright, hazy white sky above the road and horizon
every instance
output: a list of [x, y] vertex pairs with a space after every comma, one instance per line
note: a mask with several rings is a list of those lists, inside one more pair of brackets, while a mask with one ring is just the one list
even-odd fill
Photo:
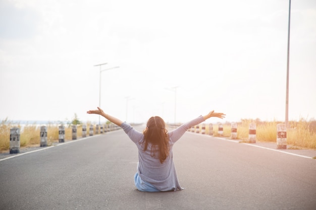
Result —
[[[127, 122], [285, 121], [288, 15], [286, 0], [0, 0], [0, 120], [98, 122], [100, 100]], [[291, 1], [289, 120], [316, 118], [315, 20], [316, 1]]]

